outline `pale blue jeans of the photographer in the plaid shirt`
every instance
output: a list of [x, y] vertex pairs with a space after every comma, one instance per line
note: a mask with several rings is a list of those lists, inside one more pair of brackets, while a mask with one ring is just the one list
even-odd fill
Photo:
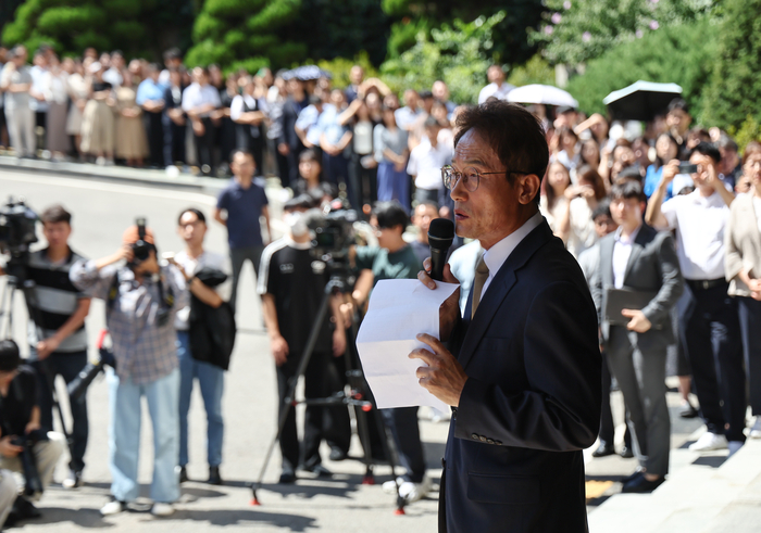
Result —
[[175, 472], [179, 452], [179, 370], [146, 384], [120, 380], [108, 369], [109, 468], [111, 494], [121, 502], [134, 502], [139, 493], [137, 462], [140, 453], [140, 398], [146, 396], [153, 426], [153, 482], [151, 499], [170, 504], [179, 498]]

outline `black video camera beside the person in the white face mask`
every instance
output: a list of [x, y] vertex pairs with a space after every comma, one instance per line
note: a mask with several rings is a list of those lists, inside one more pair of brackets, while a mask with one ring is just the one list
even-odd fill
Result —
[[349, 246], [354, 242], [354, 223], [359, 216], [355, 211], [346, 208], [340, 200], [335, 200], [325, 210], [308, 215], [307, 226], [314, 232], [312, 254], [344, 262], [348, 257]]

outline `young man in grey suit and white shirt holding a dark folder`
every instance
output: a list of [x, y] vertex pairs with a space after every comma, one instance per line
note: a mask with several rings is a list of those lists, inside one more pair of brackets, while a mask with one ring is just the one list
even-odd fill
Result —
[[[624, 483], [622, 492], [626, 493], [651, 492], [669, 472], [666, 347], [675, 342], [671, 308], [683, 290], [671, 233], [643, 224], [644, 210], [645, 194], [639, 183], [613, 186], [610, 212], [619, 229], [600, 241], [600, 267], [591, 283], [602, 343], [628, 407], [628, 424], [639, 460], [639, 471]], [[652, 297], [638, 308], [632, 304], [633, 308], [622, 309], [622, 317], [616, 320], [612, 316], [615, 310], [608, 309], [608, 303], [610, 291], [621, 289], [632, 297]]]

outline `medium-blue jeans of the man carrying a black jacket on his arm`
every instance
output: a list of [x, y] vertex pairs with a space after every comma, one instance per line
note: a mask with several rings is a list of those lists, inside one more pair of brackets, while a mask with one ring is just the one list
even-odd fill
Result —
[[188, 411], [192, 381], [201, 386], [203, 408], [207, 410], [207, 460], [210, 467], [222, 464], [222, 436], [225, 424], [222, 420], [222, 393], [225, 388], [225, 371], [209, 363], [196, 360], [190, 355], [187, 331], [177, 331], [177, 355], [179, 356], [179, 466], [188, 464]]

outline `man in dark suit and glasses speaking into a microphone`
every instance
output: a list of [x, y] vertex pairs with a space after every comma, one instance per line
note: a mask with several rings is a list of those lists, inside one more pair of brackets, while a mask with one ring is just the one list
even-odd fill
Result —
[[[445, 185], [457, 233], [485, 253], [464, 317], [456, 291], [441, 307], [441, 341], [421, 334], [427, 350], [410, 354], [427, 364], [421, 385], [454, 407], [439, 531], [586, 532], [582, 449], [600, 423], [597, 317], [578, 264], [539, 213], [547, 142], [534, 115], [504, 102], [463, 112], [457, 128]], [[458, 282], [449, 266], [445, 281]]]

